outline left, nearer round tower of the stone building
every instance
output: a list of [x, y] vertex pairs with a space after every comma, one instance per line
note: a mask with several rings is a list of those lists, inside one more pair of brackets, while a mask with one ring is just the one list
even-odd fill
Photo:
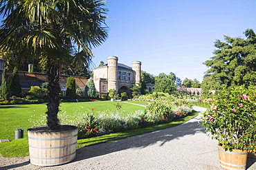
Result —
[[117, 79], [118, 79], [118, 57], [117, 56], [109, 56], [107, 58], [108, 65], [108, 90], [116, 89], [117, 90]]

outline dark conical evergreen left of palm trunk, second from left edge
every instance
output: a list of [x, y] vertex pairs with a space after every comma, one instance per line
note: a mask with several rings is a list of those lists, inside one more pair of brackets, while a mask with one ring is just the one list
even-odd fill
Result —
[[21, 84], [19, 83], [19, 73], [17, 67], [15, 67], [12, 72], [10, 94], [14, 96], [19, 96], [19, 94], [21, 94]]

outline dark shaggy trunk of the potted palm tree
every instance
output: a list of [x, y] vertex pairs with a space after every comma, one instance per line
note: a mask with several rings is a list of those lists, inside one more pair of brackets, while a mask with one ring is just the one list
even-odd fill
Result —
[[57, 118], [60, 100], [60, 65], [48, 60], [48, 104], [47, 104], [47, 125], [48, 131], [60, 129], [60, 120]]

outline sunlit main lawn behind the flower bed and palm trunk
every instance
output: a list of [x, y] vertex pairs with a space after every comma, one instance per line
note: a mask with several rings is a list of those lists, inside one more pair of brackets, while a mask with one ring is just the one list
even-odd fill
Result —
[[[99, 111], [115, 110], [113, 104], [118, 102], [101, 101], [101, 102], [80, 102], [80, 103], [62, 103], [60, 109], [66, 111], [66, 114], [72, 116], [75, 112], [92, 111], [97, 115]], [[120, 102], [119, 102], [120, 103]], [[136, 110], [144, 110], [144, 107], [121, 103], [124, 114], [129, 114]], [[15, 139], [15, 129], [24, 129], [24, 138], [27, 138], [27, 129], [33, 127], [28, 119], [38, 120], [45, 116], [46, 104], [38, 105], [0, 105], [0, 139]]]

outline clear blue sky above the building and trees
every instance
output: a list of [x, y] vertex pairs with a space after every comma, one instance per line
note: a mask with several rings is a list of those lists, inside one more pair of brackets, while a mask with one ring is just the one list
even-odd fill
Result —
[[126, 65], [141, 61], [156, 76], [174, 72], [201, 82], [214, 41], [256, 31], [255, 7], [255, 0], [108, 0], [109, 38], [93, 49], [93, 63], [118, 56]]

